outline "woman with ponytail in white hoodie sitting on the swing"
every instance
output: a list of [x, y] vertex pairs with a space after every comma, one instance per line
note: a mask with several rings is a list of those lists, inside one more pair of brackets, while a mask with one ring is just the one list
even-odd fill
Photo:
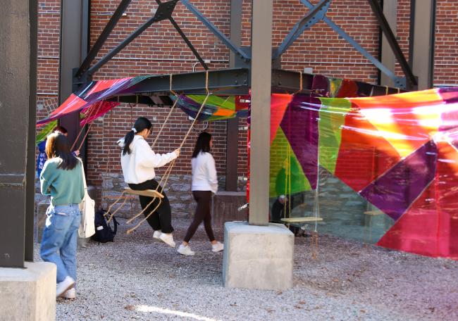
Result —
[[[151, 131], [151, 122], [147, 118], [140, 117], [135, 121], [132, 130], [118, 141], [119, 146], [123, 148], [121, 166], [123, 168], [124, 182], [128, 183], [131, 189], [137, 191], [156, 189], [159, 183], [154, 180], [154, 177], [156, 177], [154, 168], [166, 165], [180, 156], [180, 149], [175, 149], [175, 151], [165, 154], [154, 153], [145, 140], [151, 134]], [[159, 187], [158, 191], [163, 195], [161, 206], [157, 208], [154, 214], [149, 216], [147, 221], [154, 230], [154, 239], [159, 239], [169, 246], [175, 247], [170, 203], [162, 187]], [[151, 197], [140, 196], [142, 209], [146, 208], [152, 200]], [[156, 199], [147, 210], [144, 210], [144, 215], [149, 215], [158, 203], [159, 199]]]

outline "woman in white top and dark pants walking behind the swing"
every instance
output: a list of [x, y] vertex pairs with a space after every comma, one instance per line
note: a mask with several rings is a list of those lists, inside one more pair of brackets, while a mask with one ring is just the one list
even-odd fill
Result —
[[196, 146], [192, 152], [192, 195], [194, 200], [197, 201], [196, 213], [194, 220], [187, 233], [184, 241], [178, 247], [178, 253], [184, 256], [194, 255], [194, 251], [189, 246], [190, 239], [199, 227], [200, 223], [204, 221], [205, 232], [211, 242], [211, 251], [223, 251], [224, 246], [216, 241], [213, 230], [211, 229], [211, 193], [218, 191], [218, 179], [216, 177], [215, 160], [210, 153], [211, 149], [211, 134], [202, 132], [197, 138]]

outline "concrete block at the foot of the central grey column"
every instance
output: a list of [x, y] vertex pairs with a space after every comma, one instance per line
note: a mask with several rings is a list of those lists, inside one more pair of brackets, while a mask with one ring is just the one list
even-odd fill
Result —
[[225, 287], [283, 290], [292, 287], [294, 234], [285, 225], [224, 225]]

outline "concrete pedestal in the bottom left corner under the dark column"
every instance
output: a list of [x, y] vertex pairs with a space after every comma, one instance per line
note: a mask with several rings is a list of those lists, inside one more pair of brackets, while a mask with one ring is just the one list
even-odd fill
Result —
[[0, 320], [55, 320], [56, 265], [26, 262], [25, 267], [0, 267]]

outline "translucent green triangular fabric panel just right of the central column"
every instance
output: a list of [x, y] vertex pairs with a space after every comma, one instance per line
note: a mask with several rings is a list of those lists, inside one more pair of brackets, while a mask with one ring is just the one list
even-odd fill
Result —
[[[290, 171], [287, 170], [287, 154], [290, 153], [291, 163], [291, 190], [287, 180], [290, 179]], [[309, 180], [304, 175], [290, 143], [287, 141], [283, 130], [278, 127], [276, 137], [271, 145], [271, 170], [269, 176], [269, 196], [276, 197], [282, 194], [295, 194], [301, 191], [311, 190]], [[288, 185], [288, 186], [286, 186]]]

